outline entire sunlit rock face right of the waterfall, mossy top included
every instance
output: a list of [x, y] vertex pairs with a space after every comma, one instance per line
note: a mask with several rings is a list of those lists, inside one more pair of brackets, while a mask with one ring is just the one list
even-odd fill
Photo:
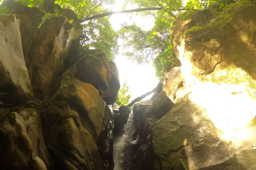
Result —
[[132, 169], [256, 168], [255, 14], [255, 4], [239, 2], [175, 20], [181, 66], [133, 108]]

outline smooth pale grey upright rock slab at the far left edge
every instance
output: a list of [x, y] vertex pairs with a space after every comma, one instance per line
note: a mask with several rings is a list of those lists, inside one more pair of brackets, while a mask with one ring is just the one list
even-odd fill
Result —
[[0, 16], [0, 101], [5, 104], [25, 103], [33, 96], [19, 24], [15, 15]]

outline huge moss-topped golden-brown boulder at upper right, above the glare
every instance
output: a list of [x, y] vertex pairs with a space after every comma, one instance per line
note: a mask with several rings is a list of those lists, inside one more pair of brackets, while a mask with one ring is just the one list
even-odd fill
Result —
[[221, 13], [182, 14], [172, 28], [175, 56], [203, 82], [238, 84], [255, 79], [254, 13], [254, 4], [241, 2]]

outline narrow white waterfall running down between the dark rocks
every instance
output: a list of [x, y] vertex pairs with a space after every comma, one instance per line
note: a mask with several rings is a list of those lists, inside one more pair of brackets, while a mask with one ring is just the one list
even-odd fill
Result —
[[[135, 126], [133, 124], [133, 113], [131, 112], [127, 123], [124, 126], [124, 133], [121, 137], [118, 137], [114, 141], [114, 162], [115, 162], [115, 168], [114, 170], [125, 170], [123, 167], [123, 163], [127, 164], [126, 154], [125, 151], [127, 147], [127, 143], [132, 143], [133, 138], [132, 134], [135, 131]], [[129, 165], [125, 165], [129, 166]]]

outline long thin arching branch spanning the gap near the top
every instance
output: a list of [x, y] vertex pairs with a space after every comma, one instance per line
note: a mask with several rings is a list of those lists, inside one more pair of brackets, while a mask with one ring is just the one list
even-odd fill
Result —
[[93, 19], [102, 18], [102, 17], [105, 17], [105, 16], [109, 16], [109, 15], [113, 15], [113, 14], [119, 14], [119, 13], [141, 12], [141, 11], [153, 11], [153, 10], [162, 10], [162, 7], [147, 7], [147, 8], [133, 9], [133, 10], [125, 10], [125, 11], [117, 11], [117, 12], [108, 12], [108, 13], [93, 15], [93, 16], [91, 16], [91, 17], [85, 18], [84, 20], [82, 20], [82, 21], [80, 21], [80, 22], [90, 21], [90, 20], [93, 20]]

